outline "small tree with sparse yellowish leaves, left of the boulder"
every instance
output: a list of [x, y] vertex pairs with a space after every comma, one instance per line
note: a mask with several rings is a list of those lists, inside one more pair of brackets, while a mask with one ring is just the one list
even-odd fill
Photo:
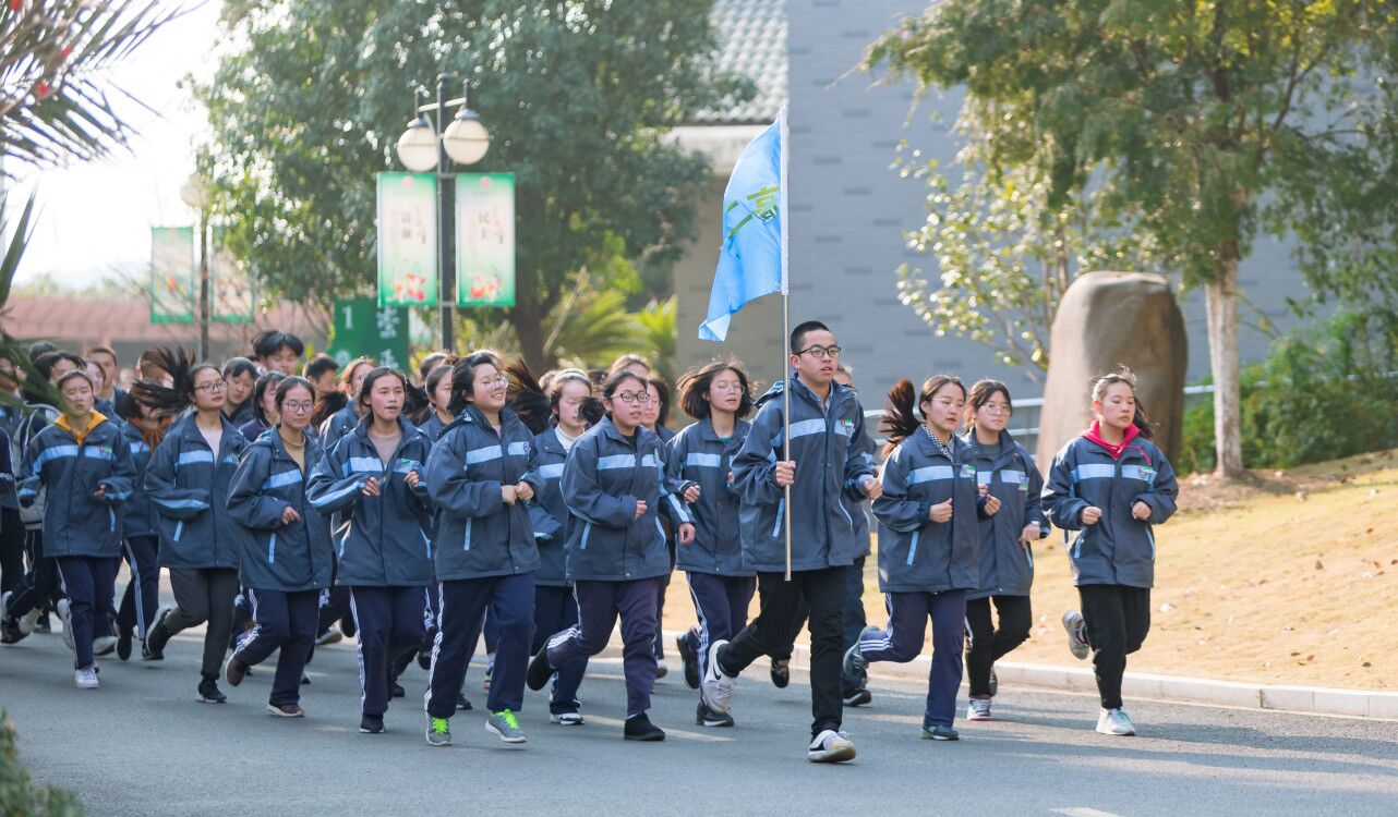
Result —
[[994, 112], [969, 103], [956, 131], [960, 183], [952, 184], [934, 159], [900, 145], [895, 168], [924, 180], [927, 219], [907, 233], [907, 246], [930, 253], [939, 275], [898, 268], [899, 300], [911, 306], [938, 335], [970, 338], [995, 352], [1035, 383], [1048, 370], [1048, 332], [1058, 300], [1086, 270], [1159, 271], [1146, 235], [1124, 230], [1085, 196], [1048, 205], [1050, 184], [1033, 165], [986, 170], [988, 137], [983, 120]]

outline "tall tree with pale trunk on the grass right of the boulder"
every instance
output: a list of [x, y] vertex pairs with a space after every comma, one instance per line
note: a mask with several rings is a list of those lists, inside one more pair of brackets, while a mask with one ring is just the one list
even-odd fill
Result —
[[1391, 8], [1364, 0], [945, 0], [886, 32], [867, 66], [998, 105], [1007, 138], [988, 162], [1033, 165], [1050, 205], [1082, 193], [1138, 214], [1132, 228], [1204, 288], [1218, 469], [1232, 476], [1239, 263], [1260, 229], [1311, 237], [1293, 179], [1327, 179], [1353, 149], [1392, 155], [1392, 130], [1356, 119], [1376, 105], [1352, 103], [1371, 85], [1360, 77], [1390, 81], [1395, 39]]

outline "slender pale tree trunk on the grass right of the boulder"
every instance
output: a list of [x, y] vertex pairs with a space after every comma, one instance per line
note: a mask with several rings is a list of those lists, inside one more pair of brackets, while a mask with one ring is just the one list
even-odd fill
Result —
[[1209, 324], [1209, 367], [1213, 370], [1213, 451], [1219, 476], [1243, 473], [1243, 427], [1237, 352], [1237, 246], [1219, 249], [1216, 279], [1204, 286]]

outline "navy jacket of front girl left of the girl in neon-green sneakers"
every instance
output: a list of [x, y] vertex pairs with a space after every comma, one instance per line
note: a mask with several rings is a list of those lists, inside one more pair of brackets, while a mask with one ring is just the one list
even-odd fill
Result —
[[[426, 587], [432, 582], [432, 501], [428, 499], [426, 461], [432, 444], [412, 423], [398, 418], [403, 439], [389, 459], [369, 439], [366, 416], [322, 455], [306, 485], [312, 507], [324, 515], [343, 514], [334, 531], [340, 559], [340, 587]], [[418, 475], [410, 487], [408, 473]], [[363, 494], [373, 476], [379, 496]]]

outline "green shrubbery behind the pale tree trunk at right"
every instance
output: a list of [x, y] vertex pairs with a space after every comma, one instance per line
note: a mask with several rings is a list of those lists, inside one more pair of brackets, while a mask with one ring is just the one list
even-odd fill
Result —
[[[1398, 320], [1339, 313], [1241, 373], [1243, 464], [1290, 468], [1398, 446]], [[1179, 469], [1211, 471], [1213, 406], [1184, 413]]]

